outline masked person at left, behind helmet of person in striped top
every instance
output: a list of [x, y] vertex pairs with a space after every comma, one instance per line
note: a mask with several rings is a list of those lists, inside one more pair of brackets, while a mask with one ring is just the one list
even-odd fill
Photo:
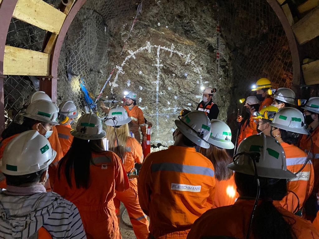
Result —
[[[48, 138], [50, 144], [52, 143], [51, 147], [58, 153], [60, 149], [60, 143], [59, 141], [57, 141], [58, 144], [55, 144], [56, 139], [54, 138], [53, 134], [55, 130], [54, 125], [59, 124], [57, 122], [58, 112], [59, 108], [55, 104], [47, 100], [36, 100], [28, 105], [28, 107], [26, 108], [26, 112], [23, 114], [24, 118], [22, 125], [12, 122], [9, 127], [6, 128], [2, 133], [2, 141], [0, 144], [0, 158], [2, 157], [4, 148], [13, 138], [27, 130], [32, 129], [37, 130], [40, 134]], [[49, 173], [52, 168], [54, 168], [54, 166], [51, 166], [50, 164], [48, 169]], [[49, 175], [49, 180], [53, 181], [54, 178], [52, 176], [53, 174], [51, 174], [51, 176]], [[5, 178], [1, 177], [0, 175], [0, 180], [0, 187], [6, 188]], [[51, 191], [52, 187], [50, 186], [49, 180], [45, 186], [48, 191]]]

